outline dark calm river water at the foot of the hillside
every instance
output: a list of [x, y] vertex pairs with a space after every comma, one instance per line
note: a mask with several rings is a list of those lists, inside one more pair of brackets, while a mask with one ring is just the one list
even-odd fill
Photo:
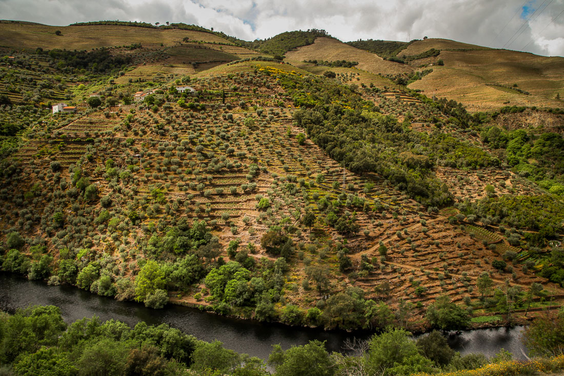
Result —
[[[67, 323], [92, 316], [98, 316], [102, 321], [113, 318], [130, 326], [140, 321], [150, 325], [167, 323], [198, 339], [217, 339], [226, 348], [263, 359], [268, 358], [273, 344], [279, 343], [287, 349], [318, 339], [326, 341], [328, 351], [342, 351], [347, 339], [365, 339], [372, 334], [369, 331], [346, 333], [237, 320], [176, 305], [167, 305], [159, 310], [149, 309], [143, 304], [105, 298], [76, 287], [47, 286], [44, 282], [28, 281], [15, 274], [0, 272], [0, 309], [14, 313], [17, 308], [29, 305], [56, 305]], [[524, 358], [523, 351], [526, 352], [526, 349], [521, 342], [522, 330], [520, 326], [513, 329], [469, 330], [450, 336], [449, 342], [452, 348], [462, 354], [480, 352], [492, 356], [504, 348], [512, 352], [515, 358]]]

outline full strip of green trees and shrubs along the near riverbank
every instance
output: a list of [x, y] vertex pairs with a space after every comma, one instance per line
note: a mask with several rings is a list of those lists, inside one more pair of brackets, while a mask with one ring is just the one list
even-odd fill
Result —
[[[552, 335], [547, 336], [547, 329]], [[564, 369], [564, 311], [527, 329], [527, 345], [537, 357], [513, 361], [503, 349], [490, 359], [461, 356], [439, 331], [417, 340], [402, 329], [350, 344], [355, 355], [328, 353], [324, 343], [282, 349], [265, 361], [226, 349], [221, 342], [196, 340], [166, 324], [131, 328], [119, 321], [83, 318], [69, 325], [59, 308], [30, 307], [0, 314], [0, 372], [3, 375], [534, 375]]]

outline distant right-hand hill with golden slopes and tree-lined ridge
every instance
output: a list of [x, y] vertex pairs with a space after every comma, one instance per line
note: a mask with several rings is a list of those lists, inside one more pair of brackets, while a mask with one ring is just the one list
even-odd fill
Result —
[[[347, 44], [379, 54], [382, 58], [404, 60], [406, 63], [403, 69], [395, 69], [392, 72], [385, 67], [371, 68], [362, 64], [357, 66], [369, 72], [392, 76], [403, 73], [407, 77], [411, 74], [410, 69], [411, 72], [433, 69], [433, 72], [427, 73], [422, 80], [414, 81], [408, 78], [408, 82], [412, 82], [409, 88], [421, 90], [430, 97], [456, 100], [468, 106], [472, 112], [491, 111], [508, 104], [562, 107], [562, 101], [556, 99], [556, 96], [564, 95], [564, 58], [558, 56], [545, 57], [517, 51], [494, 50], [440, 38], [409, 43], [368, 40]], [[303, 49], [310, 51], [313, 46]], [[338, 48], [338, 43], [333, 42], [331, 46], [327, 45], [326, 49], [319, 48], [315, 53], [304, 53], [304, 56], [306, 60], [343, 59], [345, 54], [334, 56], [333, 51]], [[352, 50], [347, 52], [350, 56], [356, 56]], [[351, 57], [347, 60], [357, 59]], [[439, 60], [444, 65], [437, 64]]]

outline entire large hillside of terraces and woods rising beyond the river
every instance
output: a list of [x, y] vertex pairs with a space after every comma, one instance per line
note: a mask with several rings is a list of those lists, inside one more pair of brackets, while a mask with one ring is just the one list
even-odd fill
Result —
[[[281, 63], [174, 39], [217, 37], [192, 30], [70, 26], [61, 38], [154, 40], [57, 51], [18, 27], [29, 50], [0, 58], [2, 270], [325, 328], [498, 325], [561, 304], [562, 111], [493, 107], [541, 98], [539, 72], [561, 85], [559, 60], [442, 50], [406, 88], [410, 65], [326, 37]], [[336, 60], [358, 64], [319, 65]], [[487, 86], [497, 75], [535, 94]], [[447, 98], [491, 111], [431, 98], [447, 78]], [[77, 112], [51, 114], [63, 100]], [[443, 295], [460, 321], [429, 314]]]

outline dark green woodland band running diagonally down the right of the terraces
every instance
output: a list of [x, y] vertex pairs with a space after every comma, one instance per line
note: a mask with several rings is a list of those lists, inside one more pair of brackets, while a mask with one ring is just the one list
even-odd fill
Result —
[[[452, 135], [438, 130], [416, 132], [394, 117], [382, 116], [347, 86], [321, 77], [310, 81], [292, 75], [283, 75], [280, 82], [296, 106], [302, 107], [294, 112], [296, 123], [333, 159], [360, 174], [379, 173], [430, 206], [452, 202], [447, 187], [434, 177], [434, 161], [459, 168], [499, 164], [486, 151]], [[437, 101], [436, 106], [458, 123], [468, 121], [468, 114], [456, 102]]]

